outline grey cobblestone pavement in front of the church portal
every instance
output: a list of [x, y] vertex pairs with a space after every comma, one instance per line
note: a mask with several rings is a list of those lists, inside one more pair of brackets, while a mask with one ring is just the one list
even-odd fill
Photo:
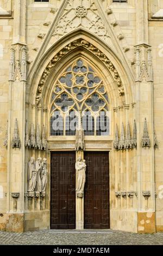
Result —
[[133, 234], [115, 230], [0, 231], [1, 245], [163, 245], [163, 233]]

